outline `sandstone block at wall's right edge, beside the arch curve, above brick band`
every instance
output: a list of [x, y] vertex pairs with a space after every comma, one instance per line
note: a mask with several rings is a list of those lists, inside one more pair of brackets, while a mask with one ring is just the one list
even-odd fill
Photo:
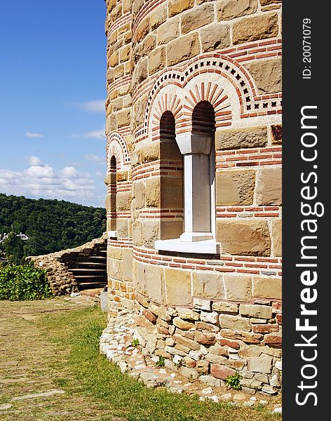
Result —
[[246, 66], [257, 85], [259, 94], [281, 92], [282, 61], [281, 58], [259, 60]]

